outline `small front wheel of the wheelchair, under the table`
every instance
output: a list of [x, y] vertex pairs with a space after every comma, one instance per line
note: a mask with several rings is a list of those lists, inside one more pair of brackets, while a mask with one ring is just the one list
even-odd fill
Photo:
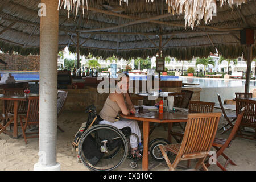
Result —
[[[164, 157], [162, 155], [162, 152], [160, 151], [159, 146], [160, 145], [166, 145], [170, 144], [170, 142], [164, 138], [156, 138], [152, 140], [149, 144], [149, 151], [150, 151], [150, 156], [152, 159], [161, 162], [164, 161]], [[170, 155], [170, 152], [166, 152], [167, 156]]]

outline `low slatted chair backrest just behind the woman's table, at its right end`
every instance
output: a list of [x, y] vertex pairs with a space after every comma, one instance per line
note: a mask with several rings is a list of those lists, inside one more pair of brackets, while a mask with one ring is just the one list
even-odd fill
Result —
[[188, 112], [189, 113], [212, 113], [214, 109], [214, 102], [202, 102], [202, 101], [189, 101]]

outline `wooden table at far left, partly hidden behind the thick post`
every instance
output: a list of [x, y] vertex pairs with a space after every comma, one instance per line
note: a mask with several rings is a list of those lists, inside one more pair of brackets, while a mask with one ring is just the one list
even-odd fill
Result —
[[[39, 94], [28, 94], [28, 97], [39, 97]], [[24, 96], [14, 96], [14, 95], [6, 95], [0, 94], [0, 100], [11, 100], [13, 101], [13, 108], [14, 108], [14, 126], [13, 126], [13, 134], [11, 137], [18, 139], [18, 101], [26, 101], [27, 98]], [[6, 113], [5, 113], [6, 114]]]

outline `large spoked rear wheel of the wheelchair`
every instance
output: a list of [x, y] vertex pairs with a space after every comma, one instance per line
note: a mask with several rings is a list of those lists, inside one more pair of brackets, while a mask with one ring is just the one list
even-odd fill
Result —
[[82, 134], [78, 146], [81, 162], [91, 170], [113, 170], [127, 157], [127, 139], [116, 127], [95, 125]]

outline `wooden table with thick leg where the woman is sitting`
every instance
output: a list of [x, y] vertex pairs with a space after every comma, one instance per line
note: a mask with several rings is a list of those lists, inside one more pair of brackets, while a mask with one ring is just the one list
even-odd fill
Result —
[[172, 129], [172, 123], [174, 122], [187, 122], [188, 119], [188, 109], [175, 108], [174, 113], [164, 112], [159, 114], [158, 111], [152, 111], [151, 109], [143, 109], [142, 113], [138, 113], [138, 110], [135, 114], [123, 115], [120, 114], [122, 118], [133, 119], [137, 121], [143, 121], [143, 158], [142, 158], [142, 170], [148, 170], [148, 136], [150, 122], [156, 123], [169, 123], [168, 127], [168, 139], [170, 139], [170, 131]]

